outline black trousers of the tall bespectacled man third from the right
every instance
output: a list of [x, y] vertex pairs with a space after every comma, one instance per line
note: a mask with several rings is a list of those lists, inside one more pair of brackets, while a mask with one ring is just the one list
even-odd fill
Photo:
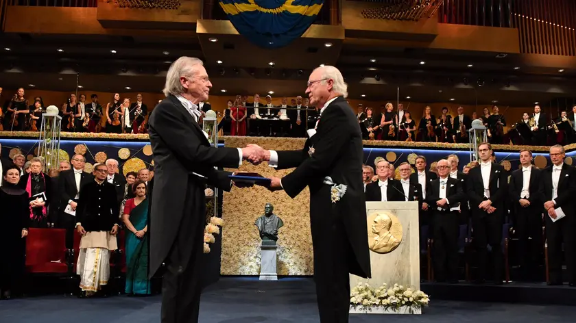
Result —
[[[503, 207], [499, 207], [503, 209]], [[502, 253], [502, 225], [504, 223], [501, 213], [488, 214], [483, 210], [474, 210], [472, 215], [472, 229], [474, 244], [478, 253], [477, 279], [485, 279], [488, 266], [488, 245], [492, 248], [492, 268], [494, 281], [501, 282], [504, 271], [504, 255]]]

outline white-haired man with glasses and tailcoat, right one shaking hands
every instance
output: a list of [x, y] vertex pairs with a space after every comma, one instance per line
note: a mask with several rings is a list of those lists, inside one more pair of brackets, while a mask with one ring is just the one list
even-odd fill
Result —
[[[366, 205], [362, 184], [362, 133], [346, 103], [348, 86], [334, 66], [316, 68], [306, 93], [322, 107], [315, 129], [298, 151], [266, 151], [269, 166], [296, 167], [270, 190], [294, 198], [310, 189], [314, 278], [321, 323], [346, 323], [350, 304], [349, 273], [370, 277]], [[335, 190], [337, 194], [331, 194]]]

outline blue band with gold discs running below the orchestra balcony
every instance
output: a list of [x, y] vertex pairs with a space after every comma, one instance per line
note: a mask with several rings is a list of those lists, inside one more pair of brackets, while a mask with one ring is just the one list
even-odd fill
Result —
[[[0, 139], [2, 144], [1, 155], [3, 157], [8, 157], [10, 151], [13, 148], [21, 149], [23, 155], [34, 155], [34, 148], [38, 146], [38, 140], [32, 139]], [[126, 141], [114, 141], [114, 140], [91, 140], [91, 141], [80, 141], [80, 140], [62, 140], [60, 142], [60, 148], [62, 151], [66, 152], [69, 158], [74, 155], [74, 148], [77, 145], [86, 144], [86, 161], [88, 163], [94, 164], [95, 157], [97, 153], [106, 154], [107, 158], [114, 158], [119, 161], [120, 170], [123, 171], [125, 165], [130, 166], [131, 170], [134, 170], [134, 166], [144, 166], [150, 170], [154, 169], [152, 165], [152, 155], [146, 155], [147, 149], [145, 146], [149, 145], [149, 142], [126, 142]], [[219, 146], [224, 146], [224, 144], [219, 144]], [[128, 148], [130, 155], [126, 159], [119, 157], [119, 150], [121, 148]], [[278, 147], [281, 149], [281, 147]], [[151, 150], [150, 150], [151, 151]], [[423, 155], [428, 161], [428, 166], [433, 161], [440, 160], [442, 158], [448, 157], [448, 155], [455, 154], [458, 156], [459, 170], [462, 170], [466, 164], [470, 161], [470, 155], [468, 151], [461, 150], [451, 150], [451, 149], [407, 149], [407, 148], [364, 148], [364, 164], [374, 167], [374, 159], [376, 157], [383, 157], [388, 161], [391, 161], [395, 166], [398, 166], [403, 161], [408, 161], [413, 165], [413, 159], [416, 155]], [[534, 153], [533, 156], [536, 157], [542, 155], [547, 159], [547, 165], [551, 165], [550, 159], [547, 153]], [[566, 153], [566, 156], [576, 157], [576, 151], [571, 151]], [[511, 164], [511, 170], [518, 169], [520, 154], [519, 153], [499, 153], [496, 152], [497, 162], [509, 161]]]

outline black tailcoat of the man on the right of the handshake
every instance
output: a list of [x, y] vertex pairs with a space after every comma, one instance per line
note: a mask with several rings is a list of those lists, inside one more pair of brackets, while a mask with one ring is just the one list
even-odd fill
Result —
[[[314, 148], [313, 152], [310, 148]], [[221, 148], [218, 148], [221, 149]], [[282, 179], [285, 192], [292, 198], [307, 186], [310, 189], [310, 223], [315, 261], [322, 261], [326, 216], [341, 218], [352, 253], [348, 255], [349, 272], [370, 277], [370, 249], [366, 229], [366, 205], [362, 183], [362, 133], [356, 114], [339, 96], [320, 117], [317, 132], [301, 151], [278, 151], [278, 169], [296, 167]], [[337, 203], [331, 202], [331, 185], [324, 178], [347, 186]], [[317, 272], [317, 274], [322, 274]]]

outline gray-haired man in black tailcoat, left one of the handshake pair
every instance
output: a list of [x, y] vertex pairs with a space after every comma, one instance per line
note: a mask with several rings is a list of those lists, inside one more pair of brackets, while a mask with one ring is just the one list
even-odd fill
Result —
[[200, 102], [208, 99], [212, 83], [202, 61], [180, 57], [166, 75], [166, 99], [149, 117], [154, 153], [154, 188], [150, 211], [149, 276], [165, 263], [162, 322], [198, 322], [202, 290], [202, 250], [206, 184], [229, 191], [232, 173], [216, 167], [238, 168], [242, 159], [262, 159], [258, 146], [215, 148], [198, 125]]

